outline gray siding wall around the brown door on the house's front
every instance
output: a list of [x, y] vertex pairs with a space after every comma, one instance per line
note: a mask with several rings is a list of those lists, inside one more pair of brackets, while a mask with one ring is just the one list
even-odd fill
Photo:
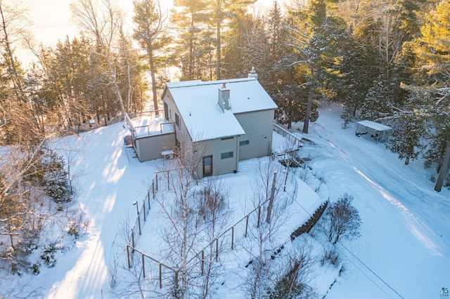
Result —
[[[198, 146], [203, 148], [202, 156], [212, 156], [212, 175], [221, 175], [225, 173], [232, 173], [238, 171], [238, 139], [221, 140], [206, 140], [198, 142]], [[221, 153], [233, 152], [232, 158], [221, 159]], [[198, 177], [203, 178], [203, 159], [200, 159], [198, 166]]]

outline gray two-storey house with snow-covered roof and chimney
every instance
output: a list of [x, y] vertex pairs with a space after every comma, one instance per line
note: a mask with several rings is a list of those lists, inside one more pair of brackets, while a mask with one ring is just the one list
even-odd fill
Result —
[[[238, 161], [271, 154], [277, 106], [254, 72], [244, 79], [167, 83], [162, 100], [165, 122], [173, 125], [173, 147], [189, 142], [201, 152], [198, 178], [236, 172]], [[135, 150], [143, 157], [147, 149]], [[162, 157], [146, 154], [155, 155]]]

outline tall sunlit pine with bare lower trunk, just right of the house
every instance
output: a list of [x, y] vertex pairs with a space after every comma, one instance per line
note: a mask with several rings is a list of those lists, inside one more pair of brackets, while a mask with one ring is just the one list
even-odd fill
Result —
[[308, 89], [303, 133], [308, 133], [309, 121], [311, 115], [314, 115], [315, 95], [322, 96], [334, 92], [333, 88], [330, 88], [332, 85], [329, 81], [340, 77], [339, 66], [342, 62], [340, 49], [347, 40], [345, 22], [342, 18], [328, 15], [327, 6], [333, 7], [333, 3], [313, 0], [309, 1], [307, 11], [291, 9], [291, 14], [298, 18], [291, 27], [294, 37], [292, 46], [297, 53], [293, 64], [297, 65], [297, 72], [307, 78], [303, 83]]

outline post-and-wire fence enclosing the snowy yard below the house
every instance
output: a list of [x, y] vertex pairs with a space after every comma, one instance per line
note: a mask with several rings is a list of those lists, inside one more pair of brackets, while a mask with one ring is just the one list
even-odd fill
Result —
[[[155, 285], [158, 284], [159, 288], [178, 288], [179, 270], [166, 263], [162, 263], [162, 261], [153, 258], [148, 255], [148, 253], [145, 253], [136, 247], [139, 236], [141, 236], [143, 232], [143, 225], [148, 218], [151, 205], [156, 197], [158, 197], [158, 192], [167, 192], [170, 190], [170, 172], [180, 170], [181, 168], [155, 173], [145, 199], [143, 199], [141, 204], [136, 202], [137, 218], [131, 227], [129, 243], [127, 244], [128, 266], [131, 268], [139, 265], [143, 277], [148, 278], [150, 281], [153, 280]], [[285, 192], [292, 201], [294, 201], [297, 196], [297, 180], [293, 180], [293, 187], [294, 189], [292, 192]], [[233, 251], [236, 246], [240, 244], [241, 240], [247, 238], [252, 227], [259, 228], [263, 222], [270, 221], [271, 212], [269, 211], [269, 206], [273, 204], [273, 202], [271, 202], [273, 199], [273, 197], [270, 197], [264, 201], [243, 218], [238, 220], [238, 222], [231, 225], [227, 230], [221, 232], [221, 234], [215, 237], [214, 240], [211, 241], [210, 244], [207, 244], [202, 250], [196, 251], [196, 253], [191, 255], [191, 259], [186, 263], [186, 267], [188, 267], [191, 272], [203, 276], [205, 274], [205, 263], [208, 259], [214, 259], [215, 261], [219, 260], [219, 255], [221, 255], [221, 253]]]

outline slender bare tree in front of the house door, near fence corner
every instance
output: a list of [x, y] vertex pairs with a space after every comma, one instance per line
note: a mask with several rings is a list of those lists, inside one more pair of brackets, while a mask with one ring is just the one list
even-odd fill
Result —
[[181, 299], [189, 292], [189, 272], [192, 265], [188, 264], [188, 261], [198, 254], [198, 235], [203, 229], [195, 224], [198, 219], [198, 206], [193, 192], [197, 186], [193, 173], [197, 173], [204, 150], [193, 145], [188, 136], [179, 139], [176, 151], [178, 157], [164, 167], [170, 192], [165, 192], [157, 198], [165, 219], [170, 223], [162, 232], [162, 238], [167, 244], [166, 257], [170, 265], [179, 272], [179, 285], [174, 287], [172, 295]]

